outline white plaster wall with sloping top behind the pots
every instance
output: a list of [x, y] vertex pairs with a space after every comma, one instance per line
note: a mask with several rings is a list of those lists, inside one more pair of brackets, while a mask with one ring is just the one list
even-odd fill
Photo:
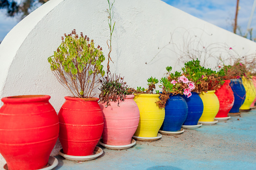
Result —
[[[61, 36], [73, 29], [94, 39], [107, 57], [107, 8], [106, 0], [51, 0], [21, 21], [0, 45], [0, 97], [47, 94], [58, 112], [64, 96], [70, 93], [51, 73], [47, 58], [59, 46]], [[186, 38], [190, 32], [192, 37], [200, 37], [203, 44], [223, 43], [240, 56], [255, 53], [254, 42], [160, 0], [119, 0], [113, 12], [116, 26], [111, 71], [124, 76], [131, 87], [146, 87], [146, 79], [160, 78], [166, 66], [181, 68], [176, 46], [165, 46], [170, 42], [170, 33], [175, 33], [172, 41], [181, 48], [189, 42]], [[209, 63], [216, 65], [214, 60]], [[52, 154], [60, 147], [57, 143]], [[0, 156], [0, 166], [3, 164]]]

